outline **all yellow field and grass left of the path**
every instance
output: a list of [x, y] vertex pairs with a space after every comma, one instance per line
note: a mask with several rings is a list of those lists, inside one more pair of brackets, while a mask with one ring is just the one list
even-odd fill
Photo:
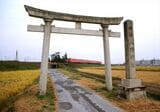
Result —
[[51, 79], [45, 96], [39, 96], [40, 63], [0, 62], [0, 111], [54, 112], [55, 94]]

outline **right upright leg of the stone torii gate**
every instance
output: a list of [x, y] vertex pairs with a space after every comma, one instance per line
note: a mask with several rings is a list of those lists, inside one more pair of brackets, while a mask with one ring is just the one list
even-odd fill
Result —
[[108, 25], [102, 25], [102, 28], [103, 28], [103, 47], [104, 47], [104, 62], [105, 62], [105, 82], [108, 91], [111, 91], [113, 87], [112, 87]]

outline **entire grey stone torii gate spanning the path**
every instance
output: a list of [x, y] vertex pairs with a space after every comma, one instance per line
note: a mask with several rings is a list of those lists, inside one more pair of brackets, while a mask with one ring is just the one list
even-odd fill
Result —
[[[109, 37], [120, 37], [120, 33], [111, 32], [108, 30], [108, 27], [109, 25], [119, 25], [123, 17], [106, 18], [106, 17], [72, 15], [72, 14], [66, 14], [66, 13], [46, 11], [46, 10], [37, 9], [37, 8], [26, 6], [26, 5], [25, 5], [25, 9], [28, 12], [29, 16], [42, 18], [45, 22], [45, 25], [42, 25], [42, 26], [28, 25], [28, 31], [44, 32], [42, 59], [41, 59], [41, 75], [40, 75], [40, 81], [39, 81], [40, 95], [44, 95], [46, 93], [50, 33], [103, 36], [105, 82], [106, 82], [107, 89], [109, 91], [112, 90]], [[75, 29], [51, 26], [53, 20], [75, 22]], [[100, 24], [102, 26], [102, 31], [81, 29], [81, 23]]]

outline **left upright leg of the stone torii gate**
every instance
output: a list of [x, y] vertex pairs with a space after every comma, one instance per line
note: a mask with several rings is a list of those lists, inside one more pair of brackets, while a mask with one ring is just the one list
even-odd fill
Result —
[[49, 44], [50, 44], [50, 32], [52, 20], [44, 19], [44, 39], [41, 59], [41, 74], [40, 74], [40, 95], [45, 95], [47, 88], [47, 74], [48, 74], [48, 55], [49, 55]]

